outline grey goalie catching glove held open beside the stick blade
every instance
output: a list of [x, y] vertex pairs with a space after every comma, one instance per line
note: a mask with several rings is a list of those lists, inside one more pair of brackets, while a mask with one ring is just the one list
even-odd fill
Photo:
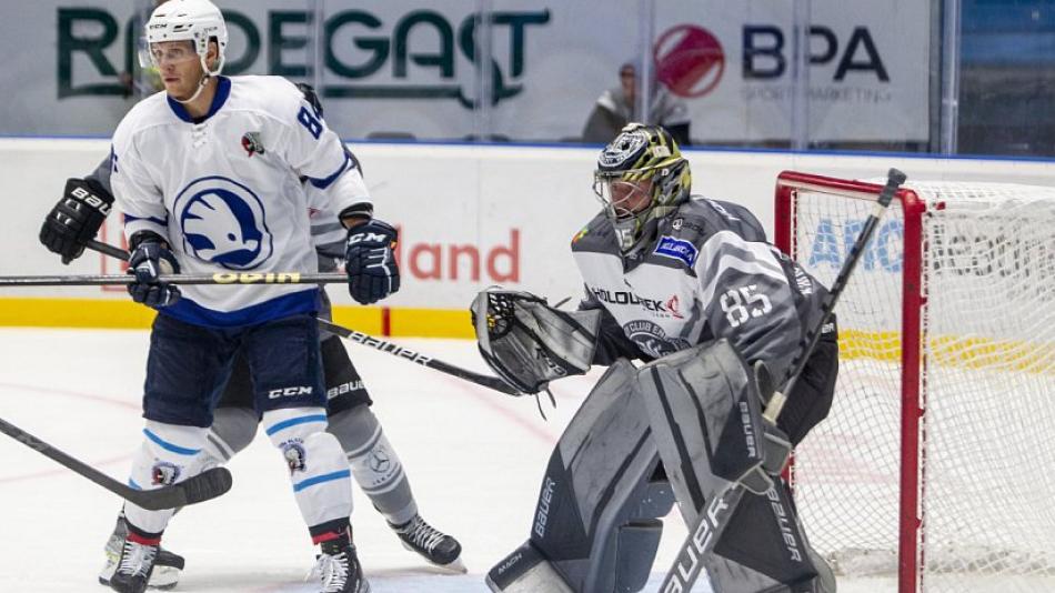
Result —
[[470, 308], [480, 354], [503, 381], [539, 393], [590, 370], [601, 311], [560, 311], [530, 292], [482, 291]]

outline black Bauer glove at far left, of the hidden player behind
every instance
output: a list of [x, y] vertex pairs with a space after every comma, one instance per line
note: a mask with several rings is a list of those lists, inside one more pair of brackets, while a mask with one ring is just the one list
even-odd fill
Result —
[[110, 213], [113, 195], [93, 180], [68, 179], [62, 198], [40, 227], [40, 242], [69, 264], [84, 252]]

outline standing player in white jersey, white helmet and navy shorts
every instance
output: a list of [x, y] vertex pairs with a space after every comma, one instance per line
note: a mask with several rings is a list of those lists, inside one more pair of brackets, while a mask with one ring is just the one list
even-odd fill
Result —
[[[325, 432], [316, 287], [189, 285], [164, 273], [314, 271], [307, 193], [325, 191], [349, 228], [349, 290], [362, 303], [399, 289], [395, 230], [372, 218], [359, 172], [336, 134], [289, 81], [221, 76], [227, 28], [208, 0], [171, 0], [145, 27], [164, 92], [144, 99], [113, 134], [111, 183], [125, 214], [137, 302], [159, 311], [143, 395], [145, 440], [130, 482], [160, 488], [200, 471], [199, 453], [235, 352], [254, 404], [290, 470], [325, 592], [365, 592], [352, 543], [350, 470]], [[110, 586], [145, 590], [171, 511], [125, 506], [128, 536]]]

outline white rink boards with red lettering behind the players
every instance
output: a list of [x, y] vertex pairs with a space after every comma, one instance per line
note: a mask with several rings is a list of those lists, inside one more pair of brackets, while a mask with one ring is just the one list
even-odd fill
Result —
[[[352, 144], [372, 188], [379, 218], [402, 228], [403, 285], [383, 304], [434, 309], [469, 306], [491, 284], [530, 290], [552, 301], [577, 296], [581, 281], [569, 242], [599, 210], [591, 189], [597, 150], [566, 147]], [[69, 177], [83, 177], [109, 153], [107, 140], [0, 139], [0, 275], [112, 273], [91, 254], [70, 267], [40, 247], [44, 214]], [[1055, 185], [1055, 163], [844, 157], [783, 152], [689, 150], [694, 191], [751, 208], [772, 232], [773, 188], [785, 169], [876, 178], [897, 167], [913, 180], [1005, 181]], [[117, 223], [107, 239], [119, 238]], [[452, 254], [475, 247], [470, 257]], [[490, 265], [489, 265], [490, 262]], [[344, 291], [332, 291], [351, 304]], [[18, 289], [3, 296], [124, 299], [123, 291]]]

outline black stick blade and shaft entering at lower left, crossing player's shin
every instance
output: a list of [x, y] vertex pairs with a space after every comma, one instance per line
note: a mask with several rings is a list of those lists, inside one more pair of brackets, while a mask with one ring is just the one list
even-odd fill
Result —
[[213, 468], [178, 484], [157, 490], [135, 490], [37, 439], [14, 424], [0, 420], [0, 432], [148, 511], [175, 509], [204, 502], [231, 490], [231, 472], [227, 468]]

